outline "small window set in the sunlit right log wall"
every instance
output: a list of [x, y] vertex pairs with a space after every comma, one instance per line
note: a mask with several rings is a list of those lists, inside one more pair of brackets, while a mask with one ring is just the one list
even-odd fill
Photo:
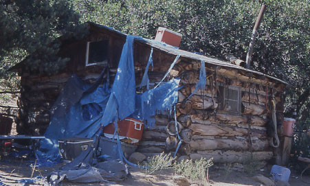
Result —
[[240, 114], [241, 112], [241, 89], [235, 86], [219, 86], [221, 111]]

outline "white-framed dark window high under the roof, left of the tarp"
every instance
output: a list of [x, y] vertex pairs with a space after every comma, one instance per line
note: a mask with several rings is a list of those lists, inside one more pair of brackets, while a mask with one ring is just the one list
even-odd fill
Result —
[[86, 66], [107, 65], [109, 54], [109, 40], [87, 42]]

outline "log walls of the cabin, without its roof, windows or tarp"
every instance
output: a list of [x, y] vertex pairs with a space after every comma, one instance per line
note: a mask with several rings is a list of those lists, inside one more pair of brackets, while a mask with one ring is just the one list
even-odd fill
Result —
[[[96, 37], [95, 37], [96, 38]], [[100, 38], [100, 37], [99, 37]], [[92, 38], [93, 39], [93, 38]], [[87, 40], [76, 45], [86, 46]], [[113, 43], [111, 41], [111, 43]], [[115, 38], [114, 48], [121, 50], [124, 38]], [[76, 47], [70, 44], [68, 49]], [[49, 109], [62, 91], [65, 82], [72, 73], [87, 82], [95, 82], [104, 68], [102, 65], [85, 67], [85, 49], [76, 59], [77, 65], [52, 76], [21, 75], [21, 97], [18, 101], [19, 113], [16, 116], [19, 134], [43, 135], [49, 124]], [[151, 47], [143, 43], [135, 43], [135, 75], [137, 87], [142, 80]], [[65, 54], [65, 52], [63, 52]], [[111, 82], [115, 76], [117, 62], [120, 57], [109, 58]], [[170, 67], [175, 56], [158, 49], [153, 51], [153, 71], [148, 71], [150, 86], [158, 84]], [[74, 63], [71, 59], [70, 64]], [[182, 89], [179, 90], [177, 104], [177, 121], [182, 126], [180, 136], [184, 139], [178, 155], [190, 159], [213, 157], [214, 162], [241, 162], [248, 156], [267, 161], [273, 156], [267, 137], [267, 123], [271, 93], [276, 97], [277, 117], [283, 117], [283, 91], [285, 84], [276, 82], [264, 75], [247, 71], [229, 69], [206, 63], [207, 85], [203, 91], [197, 91], [190, 99], [187, 97], [195, 90], [199, 81], [200, 61], [181, 57], [177, 65], [165, 81], [181, 78]], [[232, 113], [221, 109], [219, 86], [234, 86], [240, 93], [240, 112]], [[144, 89], [140, 91], [145, 91]], [[170, 114], [156, 115], [155, 128], [144, 128], [138, 152], [146, 155], [160, 152], [174, 152], [177, 138], [166, 132], [166, 126], [174, 119]]]

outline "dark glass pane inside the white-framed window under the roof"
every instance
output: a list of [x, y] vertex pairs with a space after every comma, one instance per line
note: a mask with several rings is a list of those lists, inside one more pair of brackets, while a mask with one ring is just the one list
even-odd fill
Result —
[[109, 40], [89, 43], [88, 63], [104, 62], [108, 59]]

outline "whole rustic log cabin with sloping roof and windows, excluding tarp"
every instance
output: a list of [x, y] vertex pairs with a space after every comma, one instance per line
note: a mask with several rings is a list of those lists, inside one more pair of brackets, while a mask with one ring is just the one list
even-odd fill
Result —
[[[89, 34], [82, 39], [63, 40], [58, 56], [70, 60], [58, 73], [29, 73], [23, 68], [23, 62], [11, 69], [21, 76], [21, 97], [16, 115], [19, 134], [44, 134], [49, 126], [50, 109], [73, 73], [92, 83], [104, 67], [109, 67], [113, 82], [126, 34], [96, 23], [88, 23], [88, 29]], [[153, 69], [148, 71], [151, 88], [162, 80], [175, 57], [180, 56], [164, 81], [181, 79], [182, 88], [176, 105], [179, 135], [183, 139], [178, 151], [181, 158], [213, 157], [215, 163], [234, 163], [250, 157], [265, 162], [279, 155], [269, 145], [267, 133], [272, 119], [272, 97], [276, 101], [278, 124], [283, 119], [287, 83], [246, 69], [240, 60], [224, 61], [155, 40], [135, 39], [133, 56], [137, 87], [152, 48]], [[201, 61], [206, 70], [206, 89], [194, 93]], [[155, 127], [144, 128], [137, 152], [151, 156], [175, 150], [177, 138], [167, 132], [174, 118], [170, 113], [160, 114], [155, 116], [155, 121]]]

